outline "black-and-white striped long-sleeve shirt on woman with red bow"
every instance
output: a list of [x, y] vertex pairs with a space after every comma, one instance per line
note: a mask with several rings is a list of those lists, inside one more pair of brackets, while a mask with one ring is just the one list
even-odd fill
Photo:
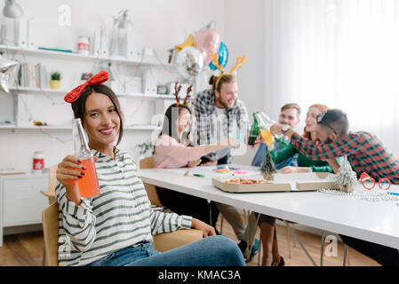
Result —
[[100, 195], [68, 201], [60, 182], [55, 195], [59, 212], [59, 264], [85, 265], [117, 250], [153, 241], [152, 235], [190, 228], [192, 218], [150, 209], [144, 185], [131, 156], [116, 149], [116, 160], [92, 150]]

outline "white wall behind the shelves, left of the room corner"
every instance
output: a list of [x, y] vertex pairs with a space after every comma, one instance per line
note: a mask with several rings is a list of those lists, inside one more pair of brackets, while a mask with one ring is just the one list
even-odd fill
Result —
[[[174, 45], [183, 43], [190, 33], [203, 28], [211, 20], [216, 21], [221, 35], [224, 35], [224, 5], [223, 0], [19, 0], [18, 3], [24, 10], [24, 17], [34, 18], [36, 25], [36, 43], [38, 46], [70, 49], [76, 51], [78, 36], [92, 36], [94, 28], [100, 24], [106, 25], [110, 34], [113, 20], [122, 8], [131, 11], [132, 22], [137, 31], [143, 35], [144, 46], [154, 47], [160, 58], [166, 59], [167, 50]], [[71, 27], [60, 27], [58, 24], [58, 8], [61, 4], [68, 4], [71, 8]], [[1, 4], [3, 7], [3, 3]], [[51, 68], [60, 69], [64, 79], [62, 89], [71, 90], [77, 85], [78, 76], [92, 67], [91, 62], [78, 62], [70, 60], [35, 59], [28, 58], [32, 62], [43, 60]], [[37, 60], [37, 61], [35, 61]], [[132, 67], [131, 67], [132, 68]], [[133, 70], [127, 70], [133, 72]], [[161, 80], [162, 78], [160, 78]], [[10, 95], [0, 100], [0, 119], [12, 114]], [[62, 117], [62, 120], [70, 120], [68, 108], [62, 112], [52, 107], [48, 99], [36, 95], [36, 103], [33, 109], [38, 119], [49, 120], [49, 117]], [[63, 95], [52, 95], [52, 99], [62, 101]], [[139, 101], [132, 101], [132, 107]], [[154, 106], [146, 102], [147, 108], [141, 110], [134, 118], [149, 121]], [[68, 140], [71, 131], [52, 130], [50, 134]], [[137, 158], [137, 144], [150, 138], [150, 131], [125, 131], [121, 148], [128, 150]], [[14, 168], [17, 170], [30, 170], [33, 152], [44, 151], [46, 166], [60, 162], [67, 154], [73, 153], [72, 145], [52, 141], [40, 130], [0, 130], [0, 169]]]

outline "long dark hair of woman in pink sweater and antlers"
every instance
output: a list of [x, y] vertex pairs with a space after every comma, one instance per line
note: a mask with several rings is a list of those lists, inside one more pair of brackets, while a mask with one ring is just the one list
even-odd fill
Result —
[[[162, 126], [161, 132], [159, 133], [159, 136], [163, 134], [169, 135], [170, 137], [176, 139], [176, 141], [180, 142], [179, 127], [177, 127], [177, 122], [179, 121], [181, 110], [183, 109], [187, 109], [188, 113], [191, 114], [190, 108], [184, 105], [178, 106], [178, 104], [173, 104], [172, 106], [169, 106], [168, 109], [166, 109], [164, 115], [164, 124]], [[188, 131], [187, 135], [185, 135], [184, 138], [188, 139], [189, 134], [190, 131]]]

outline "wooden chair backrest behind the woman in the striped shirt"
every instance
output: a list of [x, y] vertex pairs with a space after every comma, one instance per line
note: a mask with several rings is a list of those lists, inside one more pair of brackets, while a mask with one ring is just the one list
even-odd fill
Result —
[[47, 266], [58, 265], [58, 239], [59, 239], [59, 208], [58, 203], [44, 209], [42, 212], [44, 235], [44, 264]]

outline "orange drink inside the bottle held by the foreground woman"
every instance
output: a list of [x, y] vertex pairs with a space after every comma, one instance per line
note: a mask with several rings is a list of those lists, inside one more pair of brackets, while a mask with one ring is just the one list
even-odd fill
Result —
[[94, 159], [90, 157], [89, 159], [83, 160], [82, 165], [86, 170], [84, 170], [84, 177], [77, 180], [80, 196], [93, 197], [99, 195], [100, 185]]

